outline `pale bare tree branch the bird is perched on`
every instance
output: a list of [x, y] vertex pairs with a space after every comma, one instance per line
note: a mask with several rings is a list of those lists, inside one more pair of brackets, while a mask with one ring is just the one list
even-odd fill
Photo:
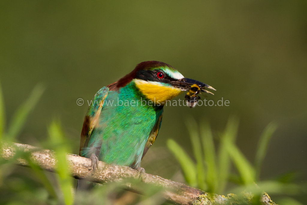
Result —
[[[12, 159], [17, 150], [31, 152], [31, 160], [33, 160], [35, 164], [47, 171], [56, 172], [55, 153], [51, 150], [43, 150], [31, 145], [18, 143], [12, 145], [3, 143], [2, 149], [3, 151], [0, 150], [0, 153], [2, 154], [2, 158], [6, 160]], [[67, 154], [67, 161], [70, 166], [70, 173], [72, 177], [76, 179], [84, 179], [96, 183], [108, 183], [137, 177], [137, 171], [132, 168], [115, 164], [106, 164], [101, 161], [99, 161], [99, 168], [97, 168], [95, 174], [92, 175], [92, 171], [88, 170], [91, 165], [91, 160], [78, 155]], [[26, 160], [20, 158], [16, 160], [16, 164], [26, 167], [29, 166]], [[216, 194], [209, 195], [204, 191], [189, 187], [185, 184], [147, 173], [143, 178], [143, 183], [164, 187], [164, 198], [177, 204], [224, 204], [227, 200], [235, 197], [233, 194], [229, 194], [227, 197]], [[125, 188], [137, 193], [141, 193], [142, 191], [140, 187], [133, 183], [126, 183]], [[246, 200], [250, 200], [250, 197], [247, 197]], [[263, 194], [261, 201], [265, 205], [275, 204], [267, 194]]]

